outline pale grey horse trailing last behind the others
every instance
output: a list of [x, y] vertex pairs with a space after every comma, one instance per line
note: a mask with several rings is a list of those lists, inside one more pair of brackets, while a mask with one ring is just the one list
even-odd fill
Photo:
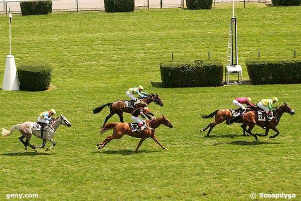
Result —
[[[49, 142], [52, 143], [52, 145], [47, 148], [46, 150], [51, 150], [56, 144], [55, 141], [53, 140], [54, 134], [58, 127], [60, 125], [66, 125], [68, 127], [71, 127], [72, 124], [67, 120], [66, 117], [63, 115], [60, 115], [60, 117], [53, 119], [51, 122], [51, 126], [49, 126], [46, 131], [43, 131], [43, 137], [41, 137], [41, 129], [37, 130], [34, 127], [34, 122], [24, 122], [23, 124], [17, 124], [11, 127], [11, 130], [8, 131], [5, 128], [2, 129], [2, 136], [3, 137], [8, 137], [10, 136], [16, 129], [20, 131], [22, 136], [19, 138], [19, 140], [22, 142], [22, 144], [25, 146], [25, 150], [27, 150], [27, 146], [30, 146], [35, 152], [37, 151], [36, 148], [44, 148], [46, 141], [48, 140]], [[43, 144], [42, 146], [35, 146], [29, 143], [32, 135], [36, 136], [37, 138], [43, 139]], [[24, 142], [24, 138], [26, 138], [26, 141]]]

